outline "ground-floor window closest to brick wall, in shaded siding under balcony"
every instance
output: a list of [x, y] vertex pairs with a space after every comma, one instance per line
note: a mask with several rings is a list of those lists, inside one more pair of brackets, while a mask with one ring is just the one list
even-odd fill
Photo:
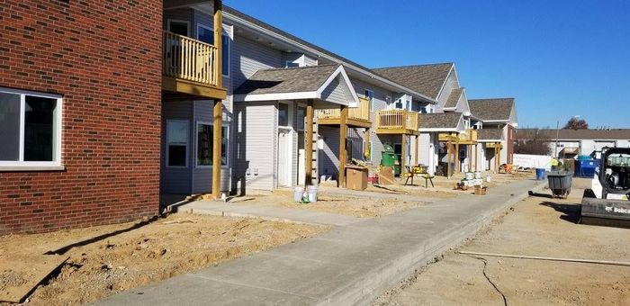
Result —
[[188, 166], [188, 121], [166, 121], [166, 166]]

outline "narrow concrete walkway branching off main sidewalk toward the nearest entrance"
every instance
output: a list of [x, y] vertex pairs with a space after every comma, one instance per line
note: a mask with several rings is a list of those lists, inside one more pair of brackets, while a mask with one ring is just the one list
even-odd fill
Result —
[[323, 211], [291, 209], [272, 205], [247, 204], [247, 202], [195, 201], [173, 206], [173, 211], [191, 211], [193, 213], [227, 216], [236, 218], [254, 218], [305, 224], [347, 226], [365, 219]]

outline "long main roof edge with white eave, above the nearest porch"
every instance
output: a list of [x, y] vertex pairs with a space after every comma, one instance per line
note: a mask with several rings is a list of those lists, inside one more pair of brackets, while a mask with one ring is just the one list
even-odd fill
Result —
[[[339, 64], [346, 65], [349, 69], [354, 69], [355, 71], [358, 71], [362, 75], [377, 79], [378, 81], [383, 82], [386, 85], [398, 88], [398, 90], [401, 90], [402, 92], [409, 92], [409, 94], [412, 94], [418, 97], [420, 100], [427, 100], [429, 103], [436, 103], [434, 98], [427, 96], [426, 94], [423, 94], [422, 92], [417, 91], [415, 88], [412, 88], [408, 85], [401, 84], [400, 82], [397, 82], [396, 80], [393, 80], [387, 76], [382, 76], [380, 74], [374, 73], [374, 71], [368, 67], [364, 67], [363, 65], [360, 65], [350, 59], [341, 57], [338, 54], [330, 52], [328, 49], [323, 49], [320, 46], [312, 44], [309, 41], [302, 40], [301, 38], [289, 32], [280, 30], [269, 23], [262, 22], [258, 20], [257, 18], [254, 18], [248, 14], [244, 14], [232, 7], [229, 7], [228, 5], [223, 6], [223, 17], [232, 22], [235, 22], [235, 21], [238, 22], [238, 20], [242, 20], [246, 23], [249, 23], [250, 25], [247, 25], [249, 27], [252, 27], [251, 25], [253, 25], [253, 27], [257, 27], [264, 31], [271, 31], [275, 33], [275, 35], [281, 36], [283, 40], [290, 40], [290, 42], [292, 42], [293, 44], [298, 45], [297, 46], [298, 48], [310, 49], [309, 51], [316, 53], [316, 56], [321, 56], [322, 58], [327, 58], [330, 61], [338, 62]], [[317, 54], [318, 52], [320, 54]]]

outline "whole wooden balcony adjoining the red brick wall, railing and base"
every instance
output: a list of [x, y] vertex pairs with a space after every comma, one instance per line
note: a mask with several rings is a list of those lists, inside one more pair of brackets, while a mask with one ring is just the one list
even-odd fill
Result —
[[225, 99], [220, 87], [220, 49], [189, 37], [163, 31], [162, 89], [167, 92]]

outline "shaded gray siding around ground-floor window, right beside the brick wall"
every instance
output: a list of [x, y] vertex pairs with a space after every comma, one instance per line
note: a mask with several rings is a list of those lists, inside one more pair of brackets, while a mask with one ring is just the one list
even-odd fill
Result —
[[[192, 192], [192, 166], [193, 166], [193, 108], [191, 102], [165, 102], [162, 103], [162, 145], [161, 145], [161, 175], [160, 191], [162, 193], [189, 194]], [[166, 121], [188, 121], [188, 166], [166, 166]]]

